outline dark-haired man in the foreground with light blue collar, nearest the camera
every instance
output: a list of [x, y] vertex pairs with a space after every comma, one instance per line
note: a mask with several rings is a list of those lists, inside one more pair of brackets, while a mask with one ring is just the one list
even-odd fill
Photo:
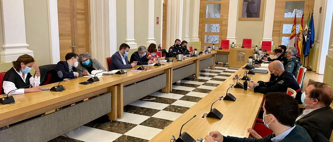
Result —
[[226, 137], [218, 131], [212, 131], [205, 137], [205, 142], [312, 142], [306, 130], [295, 124], [299, 108], [293, 97], [281, 92], [267, 93], [263, 109], [263, 121], [273, 134], [252, 139]]

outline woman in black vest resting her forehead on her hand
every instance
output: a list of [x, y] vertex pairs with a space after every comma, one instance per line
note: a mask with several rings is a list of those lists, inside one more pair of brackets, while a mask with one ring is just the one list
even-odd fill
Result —
[[[8, 94], [11, 91], [12, 92], [9, 95], [42, 91], [42, 87], [39, 86], [39, 67], [32, 56], [28, 54], [21, 55], [12, 63], [13, 67], [9, 69], [3, 77], [1, 94]], [[32, 77], [30, 74], [31, 68], [35, 68], [36, 70], [35, 77]], [[15, 90], [27, 85], [32, 85], [32, 88], [28, 86]]]

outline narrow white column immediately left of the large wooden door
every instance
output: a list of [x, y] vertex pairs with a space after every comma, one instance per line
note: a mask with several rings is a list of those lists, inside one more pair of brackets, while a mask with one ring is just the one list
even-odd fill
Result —
[[49, 18], [50, 60], [51, 64], [57, 64], [60, 61], [57, 0], [48, 0], [47, 8]]

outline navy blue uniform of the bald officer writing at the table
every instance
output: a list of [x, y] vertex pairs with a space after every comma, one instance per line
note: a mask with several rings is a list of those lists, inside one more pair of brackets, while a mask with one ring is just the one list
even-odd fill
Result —
[[301, 88], [299, 87], [294, 75], [288, 71], [284, 71], [281, 76], [276, 77], [276, 79], [272, 81], [258, 81], [258, 83], [259, 86], [253, 89], [254, 93], [259, 92], [262, 94], [266, 94], [269, 92], [287, 92], [287, 88], [291, 88], [297, 92], [295, 99], [298, 101], [298, 104], [302, 104]]

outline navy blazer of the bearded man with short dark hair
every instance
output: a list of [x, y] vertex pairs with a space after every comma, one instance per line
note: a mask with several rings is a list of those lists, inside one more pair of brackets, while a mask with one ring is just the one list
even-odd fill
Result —
[[109, 70], [116, 70], [116, 69], [130, 69], [132, 68], [132, 65], [130, 62], [128, 62], [128, 57], [125, 57], [125, 60], [127, 61], [127, 64], [125, 65], [122, 59], [122, 55], [117, 51], [111, 56], [111, 62], [109, 66]]

